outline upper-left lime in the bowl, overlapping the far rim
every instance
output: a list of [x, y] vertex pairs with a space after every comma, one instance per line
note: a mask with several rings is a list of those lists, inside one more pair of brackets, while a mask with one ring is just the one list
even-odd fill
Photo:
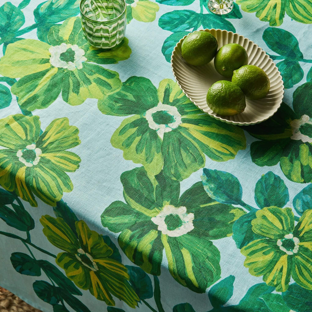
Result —
[[194, 66], [209, 63], [216, 55], [218, 42], [209, 32], [197, 31], [186, 36], [181, 51], [184, 60]]

